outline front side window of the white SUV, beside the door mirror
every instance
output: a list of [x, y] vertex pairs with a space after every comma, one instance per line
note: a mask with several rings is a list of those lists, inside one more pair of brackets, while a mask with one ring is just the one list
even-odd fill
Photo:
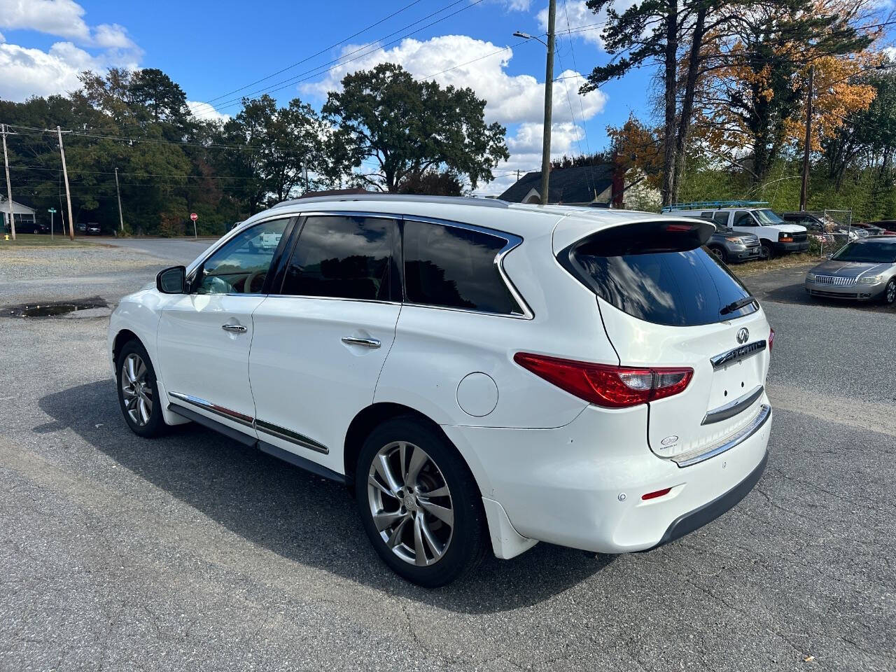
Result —
[[260, 294], [289, 220], [246, 228], [202, 263], [197, 294]]

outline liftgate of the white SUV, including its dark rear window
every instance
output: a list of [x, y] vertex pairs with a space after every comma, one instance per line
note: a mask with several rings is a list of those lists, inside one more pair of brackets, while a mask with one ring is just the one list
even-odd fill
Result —
[[[686, 237], [681, 225], [656, 226], [677, 226]], [[769, 325], [757, 303], [731, 307], [749, 294], [701, 247], [641, 231], [626, 237], [625, 228], [573, 254], [598, 294], [621, 366], [694, 369], [684, 392], [650, 402], [648, 438], [662, 457], [699, 452], [757, 417]]]

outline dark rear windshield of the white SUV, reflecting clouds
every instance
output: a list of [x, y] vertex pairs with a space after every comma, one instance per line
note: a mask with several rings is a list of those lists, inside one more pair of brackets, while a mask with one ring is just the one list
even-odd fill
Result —
[[[651, 223], [621, 228], [645, 226], [662, 225]], [[685, 249], [675, 249], [674, 240], [667, 236], [663, 241], [667, 251], [659, 251], [659, 246], [654, 243], [641, 253], [637, 249], [639, 239], [657, 240], [657, 235], [650, 230], [641, 233], [635, 236], [622, 234], [615, 239], [616, 234], [610, 229], [573, 247], [570, 253], [573, 271], [609, 304], [650, 323], [670, 326], [711, 324], [757, 310], [751, 303], [722, 314], [722, 308], [750, 294], [740, 280], [715, 261], [712, 254], [702, 247], [694, 247], [697, 244], [694, 240], [683, 240]]]

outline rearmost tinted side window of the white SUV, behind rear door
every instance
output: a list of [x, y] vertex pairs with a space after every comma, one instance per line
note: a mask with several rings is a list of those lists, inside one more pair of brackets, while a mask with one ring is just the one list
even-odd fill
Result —
[[404, 223], [404, 288], [410, 303], [522, 314], [495, 266], [507, 240], [468, 228]]

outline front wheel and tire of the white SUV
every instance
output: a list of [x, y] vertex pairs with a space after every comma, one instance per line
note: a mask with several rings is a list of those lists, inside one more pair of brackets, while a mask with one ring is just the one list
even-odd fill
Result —
[[118, 406], [135, 435], [150, 438], [165, 431], [159, 386], [150, 356], [138, 340], [122, 346], [116, 361]]

